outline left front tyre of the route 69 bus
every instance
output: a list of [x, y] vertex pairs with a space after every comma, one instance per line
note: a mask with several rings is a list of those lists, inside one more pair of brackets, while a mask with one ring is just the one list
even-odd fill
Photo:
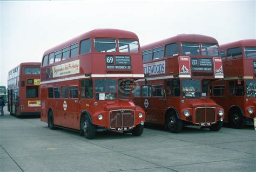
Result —
[[95, 136], [95, 126], [90, 122], [87, 115], [82, 118], [82, 130], [86, 139], [92, 139]]

